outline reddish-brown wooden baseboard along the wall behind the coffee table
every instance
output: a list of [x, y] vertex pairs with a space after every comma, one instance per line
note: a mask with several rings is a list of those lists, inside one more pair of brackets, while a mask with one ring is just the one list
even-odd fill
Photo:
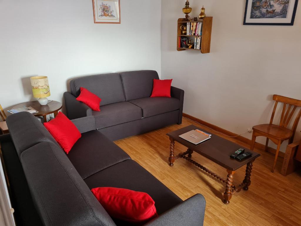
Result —
[[[199, 119], [199, 118], [195, 118], [195, 117], [193, 117], [193, 116], [191, 116], [191, 115], [188, 115], [188, 114], [185, 114], [185, 113], [183, 113], [183, 117], [189, 118], [189, 119], [191, 119], [191, 120], [193, 120], [193, 121], [196, 121], [196, 122], [198, 122], [198, 123], [200, 123], [200, 124], [202, 124], [202, 125], [204, 125], [204, 126], [207, 126], [207, 127], [211, 128], [211, 129], [216, 130], [216, 131], [218, 131], [218, 132], [220, 132], [220, 133], [223, 133], [223, 134], [225, 134], [225, 135], [227, 135], [227, 136], [235, 137], [234, 139], [239, 140], [239, 141], [241, 141], [241, 142], [244, 142], [244, 143], [246, 143], [248, 146], [251, 146], [251, 142], [252, 142], [252, 141], [251, 141], [250, 139], [246, 138], [246, 137], [243, 137], [243, 136], [238, 136], [238, 137], [236, 137], [236, 136], [238, 135], [238, 134], [236, 134], [236, 133], [232, 133], [232, 132], [230, 132], [230, 131], [228, 131], [228, 130], [225, 130], [225, 129], [221, 128], [221, 127], [218, 127], [218, 126], [216, 126], [216, 125], [213, 125], [213, 124], [211, 124], [211, 123], [209, 123], [209, 122], [205, 122], [205, 121], [203, 121], [203, 120], [201, 120], [201, 119]], [[246, 145], [246, 146], [247, 146], [247, 145]], [[264, 151], [264, 149], [265, 149], [265, 145], [263, 145], [263, 144], [261, 144], [261, 143], [258, 143], [258, 142], [255, 143], [255, 147], [258, 148], [258, 149], [261, 149], [262, 151]], [[268, 152], [275, 154], [275, 153], [276, 153], [276, 149], [271, 148], [271, 147], [268, 147]], [[284, 158], [284, 155], [285, 155], [284, 152], [279, 152], [279, 155], [278, 155], [278, 156]]]

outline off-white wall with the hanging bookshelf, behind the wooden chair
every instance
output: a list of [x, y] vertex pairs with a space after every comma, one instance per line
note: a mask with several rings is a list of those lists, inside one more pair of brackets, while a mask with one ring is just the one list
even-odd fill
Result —
[[239, 134], [269, 123], [272, 94], [301, 99], [300, 3], [294, 26], [247, 26], [242, 25], [246, 1], [189, 2], [192, 17], [202, 5], [213, 16], [208, 54], [176, 51], [176, 24], [184, 17], [185, 1], [163, 0], [161, 8], [162, 78], [173, 78], [173, 85], [185, 90], [185, 113]]

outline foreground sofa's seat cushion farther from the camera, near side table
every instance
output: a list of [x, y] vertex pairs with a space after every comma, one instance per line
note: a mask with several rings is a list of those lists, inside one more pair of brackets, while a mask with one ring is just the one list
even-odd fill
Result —
[[67, 155], [83, 179], [131, 157], [100, 131], [82, 133]]

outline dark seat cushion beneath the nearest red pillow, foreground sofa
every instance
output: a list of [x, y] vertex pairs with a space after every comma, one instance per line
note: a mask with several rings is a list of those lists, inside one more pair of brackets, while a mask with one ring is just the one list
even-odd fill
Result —
[[133, 160], [126, 160], [106, 168], [86, 178], [85, 182], [90, 189], [95, 187], [119, 187], [145, 192], [155, 201], [155, 207], [159, 215], [182, 202], [182, 199]]

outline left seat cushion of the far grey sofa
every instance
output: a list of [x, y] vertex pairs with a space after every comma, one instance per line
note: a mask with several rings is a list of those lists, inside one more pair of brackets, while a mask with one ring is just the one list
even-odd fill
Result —
[[101, 111], [93, 111], [92, 114], [95, 116], [97, 129], [142, 118], [141, 108], [126, 101], [104, 105]]

